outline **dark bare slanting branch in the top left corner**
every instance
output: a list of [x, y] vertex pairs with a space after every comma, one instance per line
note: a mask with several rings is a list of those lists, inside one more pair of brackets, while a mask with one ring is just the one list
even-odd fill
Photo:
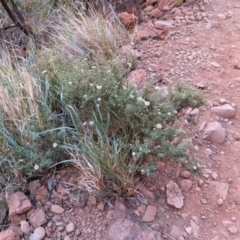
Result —
[[5, 0], [0, 0], [3, 8], [6, 10], [7, 14], [9, 15], [9, 17], [12, 19], [12, 21], [16, 24], [16, 26], [22, 31], [24, 32], [27, 36], [32, 35], [33, 38], [35, 38], [35, 34], [32, 32], [31, 28], [26, 26], [26, 23], [24, 21], [24, 18], [22, 16], [22, 14], [20, 13], [20, 11], [18, 10], [16, 4], [13, 2], [13, 0], [11, 0], [13, 8], [15, 13], [17, 14], [17, 16], [19, 17], [20, 20], [23, 20], [22, 23], [20, 21], [18, 21], [18, 19], [15, 17], [15, 15], [13, 14], [12, 10], [9, 8], [8, 4], [6, 3]]

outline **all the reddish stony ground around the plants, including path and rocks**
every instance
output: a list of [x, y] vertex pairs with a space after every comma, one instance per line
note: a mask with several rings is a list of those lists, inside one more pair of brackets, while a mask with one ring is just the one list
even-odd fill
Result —
[[[10, 226], [0, 240], [240, 239], [240, 2], [187, 1], [173, 9], [170, 2], [147, 1], [130, 33], [128, 48], [139, 58], [130, 78], [150, 79], [164, 94], [164, 84], [182, 80], [206, 94], [206, 106], [180, 118], [202, 174], [162, 162], [136, 197], [99, 202], [78, 189], [77, 172], [65, 169], [32, 181], [28, 193], [1, 197]], [[0, 207], [3, 217], [2, 201]]]

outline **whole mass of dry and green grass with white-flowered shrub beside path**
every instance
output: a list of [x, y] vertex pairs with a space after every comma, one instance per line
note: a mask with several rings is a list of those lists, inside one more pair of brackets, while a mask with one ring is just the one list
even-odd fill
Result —
[[52, 39], [28, 58], [0, 58], [2, 188], [71, 163], [81, 189], [131, 195], [157, 159], [191, 166], [178, 114], [203, 104], [198, 91], [179, 85], [162, 101], [161, 89], [128, 84], [125, 30], [96, 11], [62, 11]]

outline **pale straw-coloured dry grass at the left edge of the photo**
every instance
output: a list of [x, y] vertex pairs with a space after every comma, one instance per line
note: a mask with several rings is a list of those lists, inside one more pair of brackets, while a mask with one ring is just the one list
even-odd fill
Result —
[[0, 57], [0, 109], [4, 119], [19, 127], [20, 122], [35, 117], [41, 122], [38, 102], [44, 99], [34, 66], [14, 61], [10, 53]]

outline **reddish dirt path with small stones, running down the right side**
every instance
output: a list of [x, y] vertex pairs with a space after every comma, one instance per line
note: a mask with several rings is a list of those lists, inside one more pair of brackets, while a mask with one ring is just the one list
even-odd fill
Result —
[[[191, 129], [196, 133], [192, 153], [203, 175], [191, 176], [193, 186], [185, 187], [185, 191], [182, 187], [185, 203], [181, 210], [169, 208], [163, 192], [156, 203], [163, 213], [159, 216], [165, 223], [162, 229], [166, 239], [240, 239], [240, 113], [237, 111], [234, 119], [224, 119], [211, 112], [211, 106], [224, 102], [221, 98], [237, 109], [240, 103], [240, 2], [203, 2], [187, 10], [189, 15], [202, 16], [199, 21], [179, 23], [163, 42], [138, 44], [142, 51], [140, 67], [147, 66], [155, 81], [174, 83], [182, 79], [202, 86], [209, 99], [209, 106], [201, 108], [197, 115], [198, 126]], [[171, 16], [167, 19], [171, 20]], [[205, 121], [218, 121], [226, 129], [223, 144], [203, 141], [198, 129]], [[190, 129], [188, 124], [185, 128]], [[180, 186], [184, 179], [171, 166], [159, 171], [158, 178], [152, 187], [155, 191], [164, 191], [170, 179]]]

